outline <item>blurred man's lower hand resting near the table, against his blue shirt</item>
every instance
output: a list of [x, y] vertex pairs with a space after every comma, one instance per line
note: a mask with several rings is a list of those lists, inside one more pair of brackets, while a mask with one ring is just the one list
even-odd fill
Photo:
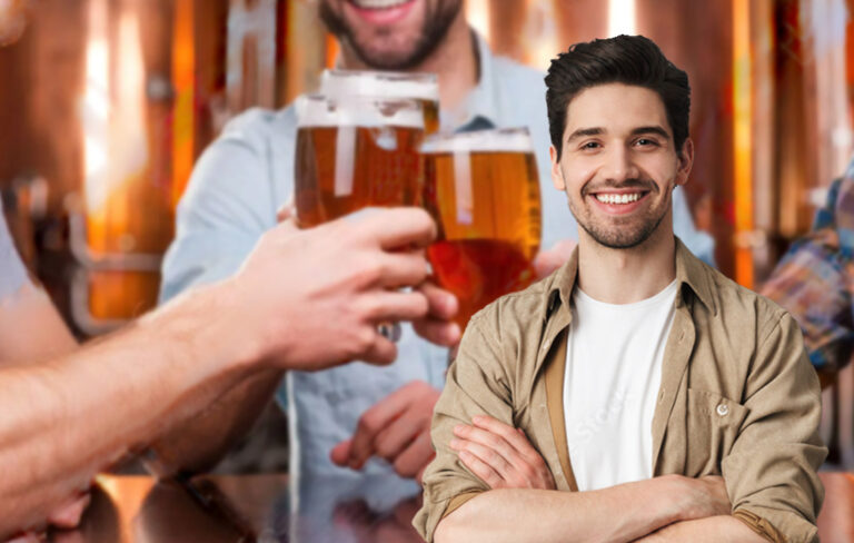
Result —
[[332, 448], [332, 462], [361, 470], [376, 455], [391, 463], [400, 476], [420, 483], [435, 456], [430, 421], [438, 399], [439, 391], [423, 381], [403, 386], [361, 415], [352, 437]]

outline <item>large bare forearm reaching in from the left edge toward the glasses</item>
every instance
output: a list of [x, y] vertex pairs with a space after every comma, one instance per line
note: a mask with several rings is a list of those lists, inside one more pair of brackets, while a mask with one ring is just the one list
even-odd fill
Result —
[[217, 318], [230, 296], [216, 288], [72, 355], [0, 369], [0, 539], [244, 378], [250, 347]]

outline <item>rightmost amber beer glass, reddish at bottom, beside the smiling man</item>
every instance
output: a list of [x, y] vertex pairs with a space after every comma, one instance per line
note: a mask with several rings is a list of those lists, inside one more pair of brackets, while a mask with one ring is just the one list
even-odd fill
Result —
[[439, 225], [427, 249], [437, 282], [459, 299], [464, 328], [477, 310], [535, 279], [542, 230], [539, 177], [527, 129], [430, 138], [425, 207]]

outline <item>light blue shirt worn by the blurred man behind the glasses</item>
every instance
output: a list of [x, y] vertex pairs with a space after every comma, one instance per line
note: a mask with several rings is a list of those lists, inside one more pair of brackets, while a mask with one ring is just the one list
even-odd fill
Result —
[[[494, 57], [483, 40], [479, 58], [478, 86], [457, 112], [444, 112], [443, 128], [527, 126], [540, 174], [542, 247], [577, 239], [566, 196], [553, 187], [549, 176], [543, 75]], [[162, 300], [234, 274], [264, 231], [276, 225], [276, 210], [294, 191], [296, 129], [292, 107], [278, 112], [251, 110], [231, 121], [205, 151], [178, 207], [176, 239], [163, 263]], [[695, 254], [712, 258], [712, 238], [694, 229], [681, 190], [674, 192], [674, 223], [676, 234]], [[301, 265], [299, 258], [282, 263]], [[419, 338], [408, 324], [403, 325], [397, 347], [397, 362], [386, 367], [356, 362], [319, 373], [288, 372], [277, 397], [287, 402], [291, 473], [358, 476], [335, 466], [329, 452], [352, 434], [359, 416], [408, 382], [444, 386], [447, 349]], [[365, 471], [393, 473], [378, 458], [368, 462]]]

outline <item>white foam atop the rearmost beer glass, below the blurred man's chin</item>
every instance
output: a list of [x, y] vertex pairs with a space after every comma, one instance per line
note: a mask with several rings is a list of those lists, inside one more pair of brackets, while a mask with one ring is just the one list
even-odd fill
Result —
[[320, 76], [320, 92], [336, 98], [373, 96], [438, 101], [439, 83], [435, 73], [324, 70]]

